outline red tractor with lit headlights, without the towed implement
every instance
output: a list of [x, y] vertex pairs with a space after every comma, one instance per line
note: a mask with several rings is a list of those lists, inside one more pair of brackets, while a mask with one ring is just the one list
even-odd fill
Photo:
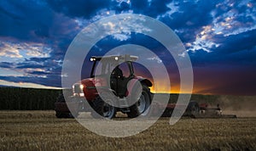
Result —
[[112, 119], [118, 111], [130, 118], [147, 115], [152, 102], [149, 90], [152, 83], [135, 75], [133, 62], [137, 59], [131, 55], [91, 57], [90, 78], [75, 83], [73, 94], [65, 97], [68, 99], [65, 100], [63, 95], [58, 98], [56, 116], [76, 117], [79, 112], [85, 111], [90, 111], [93, 117], [108, 119]]

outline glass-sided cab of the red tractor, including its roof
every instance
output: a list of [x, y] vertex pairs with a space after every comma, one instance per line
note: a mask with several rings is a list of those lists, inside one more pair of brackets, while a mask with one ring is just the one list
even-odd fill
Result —
[[[93, 61], [92, 70], [90, 73], [91, 78], [95, 78], [96, 81], [103, 79], [106, 81], [106, 87], [111, 88], [119, 98], [124, 98], [128, 95], [127, 84], [134, 79], [132, 62], [138, 58], [131, 55], [123, 56], [104, 56], [90, 58]], [[102, 87], [102, 83], [98, 84]]]

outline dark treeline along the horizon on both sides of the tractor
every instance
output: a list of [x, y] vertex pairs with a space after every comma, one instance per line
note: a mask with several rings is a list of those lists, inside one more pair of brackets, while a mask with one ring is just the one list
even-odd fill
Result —
[[[47, 110], [55, 109], [56, 98], [61, 90], [20, 87], [0, 87], [0, 109]], [[67, 89], [67, 92], [72, 92]], [[72, 93], [70, 93], [72, 95]], [[160, 93], [154, 95], [161, 95]], [[170, 94], [169, 103], [176, 103], [178, 94]], [[192, 94], [191, 100], [198, 103], [220, 104], [222, 109], [251, 109], [255, 96], [219, 96]], [[161, 100], [158, 100], [161, 102]]]

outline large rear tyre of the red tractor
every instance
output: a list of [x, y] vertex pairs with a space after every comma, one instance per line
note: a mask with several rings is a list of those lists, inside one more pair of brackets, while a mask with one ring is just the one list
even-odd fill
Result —
[[137, 103], [131, 105], [130, 112], [127, 113], [128, 117], [135, 118], [139, 115], [147, 116], [149, 114], [151, 99], [149, 88], [143, 85], [142, 94]]

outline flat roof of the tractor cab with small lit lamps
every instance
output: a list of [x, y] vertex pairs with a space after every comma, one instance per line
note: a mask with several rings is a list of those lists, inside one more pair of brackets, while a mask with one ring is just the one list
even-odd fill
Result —
[[132, 56], [129, 54], [125, 55], [111, 55], [111, 56], [92, 56], [90, 61], [136, 61], [138, 59], [137, 56]]

